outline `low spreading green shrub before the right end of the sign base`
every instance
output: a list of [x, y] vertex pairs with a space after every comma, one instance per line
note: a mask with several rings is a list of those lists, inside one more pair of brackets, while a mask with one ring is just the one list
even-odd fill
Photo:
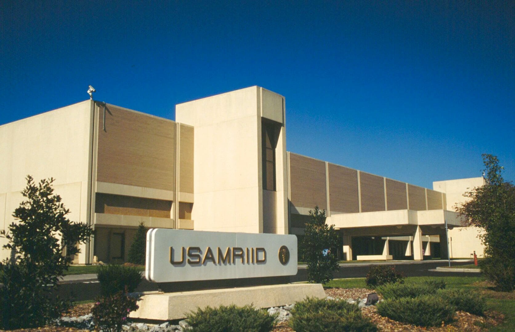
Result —
[[314, 298], [307, 298], [295, 304], [291, 310], [289, 325], [297, 332], [377, 330], [370, 319], [362, 316], [356, 304]]

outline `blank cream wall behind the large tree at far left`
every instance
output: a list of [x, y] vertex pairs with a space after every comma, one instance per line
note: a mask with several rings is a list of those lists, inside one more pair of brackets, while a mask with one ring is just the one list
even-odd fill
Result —
[[[53, 177], [55, 193], [71, 210], [70, 219], [89, 222], [91, 108], [87, 100], [0, 126], [0, 228], [14, 221], [12, 213], [23, 200], [29, 174], [35, 182]], [[0, 259], [8, 255], [0, 249]]]

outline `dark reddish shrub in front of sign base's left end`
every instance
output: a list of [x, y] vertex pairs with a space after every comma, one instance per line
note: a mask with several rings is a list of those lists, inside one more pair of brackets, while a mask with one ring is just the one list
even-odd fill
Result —
[[139, 308], [138, 299], [127, 296], [126, 291], [100, 298], [91, 313], [95, 330], [119, 332], [131, 311]]

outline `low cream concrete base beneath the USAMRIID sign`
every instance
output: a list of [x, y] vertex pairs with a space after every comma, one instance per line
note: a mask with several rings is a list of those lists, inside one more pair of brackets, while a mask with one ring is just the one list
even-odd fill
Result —
[[140, 308], [131, 312], [129, 317], [169, 321], [185, 318], [186, 313], [197, 307], [253, 304], [256, 308], [268, 308], [293, 304], [306, 297], [325, 298], [322, 285], [286, 284], [174, 293], [148, 292], [138, 301]]

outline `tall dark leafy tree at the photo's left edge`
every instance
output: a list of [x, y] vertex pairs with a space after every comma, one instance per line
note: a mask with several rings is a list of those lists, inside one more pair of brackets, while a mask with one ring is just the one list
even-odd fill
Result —
[[[79, 252], [77, 243], [88, 241], [91, 228], [72, 223], [59, 195], [54, 195], [53, 178], [36, 184], [27, 176], [26, 198], [14, 210], [18, 223], [1, 235], [9, 241], [11, 258], [0, 263], [0, 327], [36, 327], [57, 318], [70, 303], [55, 296], [58, 278]], [[60, 235], [60, 239], [57, 237]]]

